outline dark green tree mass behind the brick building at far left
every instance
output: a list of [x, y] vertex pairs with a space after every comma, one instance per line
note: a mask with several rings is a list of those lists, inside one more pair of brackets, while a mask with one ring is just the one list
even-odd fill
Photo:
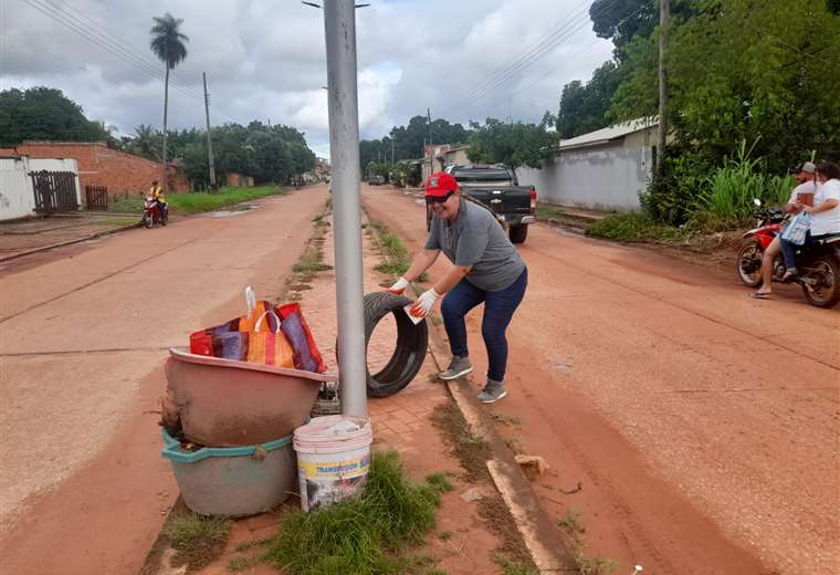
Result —
[[27, 139], [118, 144], [104, 124], [87, 119], [82, 106], [61, 90], [36, 86], [0, 92], [0, 146]]

